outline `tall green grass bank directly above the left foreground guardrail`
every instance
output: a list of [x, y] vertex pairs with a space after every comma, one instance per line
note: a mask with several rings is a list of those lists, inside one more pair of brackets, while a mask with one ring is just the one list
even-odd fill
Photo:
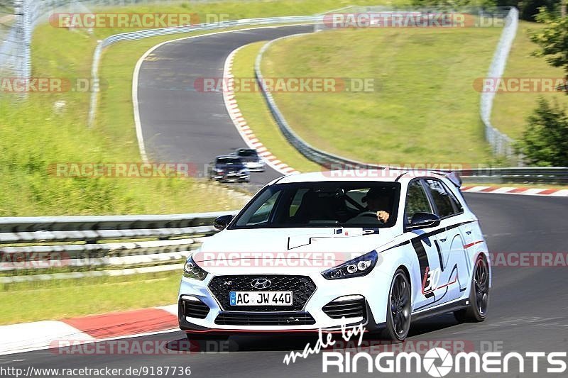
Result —
[[99, 128], [76, 122], [71, 111], [54, 114], [43, 101], [0, 103], [0, 216], [180, 213], [242, 205], [226, 189], [191, 178], [55, 177], [48, 168], [57, 162], [139, 158]]

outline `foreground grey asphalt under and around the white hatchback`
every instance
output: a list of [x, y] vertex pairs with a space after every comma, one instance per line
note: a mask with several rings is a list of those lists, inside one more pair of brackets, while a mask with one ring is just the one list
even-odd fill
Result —
[[[568, 199], [510, 194], [466, 194], [466, 199], [481, 220], [491, 252], [568, 250], [566, 222], [562, 221], [568, 211]], [[458, 324], [451, 314], [439, 316], [415, 323], [407, 343], [417, 340], [462, 340], [468, 345], [473, 343], [476, 348], [481, 347], [481, 342], [496, 342], [492, 345], [503, 352], [566, 351], [567, 287], [566, 267], [496, 267], [493, 269], [489, 314], [484, 323]], [[131, 340], [168, 340], [175, 350], [174, 345], [185, 340], [185, 335], [180, 331]], [[192, 377], [315, 377], [322, 374], [320, 355], [283, 365], [287, 352], [301, 351], [310, 341], [313, 345], [315, 338], [290, 335], [235, 336], [229, 338], [228, 343], [222, 343], [222, 348], [229, 348], [231, 352], [180, 355], [60, 355], [58, 350], [41, 350], [0, 356], [0, 366], [9, 364], [26, 369], [29, 365], [69, 368], [169, 365], [190, 366]], [[200, 342], [200, 348], [217, 350], [218, 347], [217, 343]], [[322, 374], [327, 377], [337, 375]], [[413, 376], [429, 377], [425, 373]], [[518, 377], [517, 374], [499, 375], [502, 376]], [[521, 375], [525, 376], [545, 377], [546, 374]], [[556, 374], [555, 377], [566, 375]]]

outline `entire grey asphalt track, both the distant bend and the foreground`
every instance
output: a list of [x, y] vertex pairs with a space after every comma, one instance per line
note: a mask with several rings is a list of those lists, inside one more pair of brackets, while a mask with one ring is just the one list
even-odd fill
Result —
[[[145, 62], [142, 67], [140, 91], [143, 133], [151, 153], [162, 161], [204, 163], [214, 155], [244, 145], [226, 115], [221, 94], [169, 88], [180, 77], [221, 76], [225, 57], [239, 45], [298, 31], [302, 28], [249, 30], [170, 43], [156, 51], [160, 58]], [[253, 177], [261, 184], [277, 175], [268, 170]], [[474, 193], [465, 196], [481, 220], [491, 252], [568, 251], [567, 198]], [[567, 267], [495, 267], [491, 304], [484, 323], [458, 324], [452, 314], [438, 316], [415, 323], [407, 343], [462, 340], [474, 345], [476, 350], [491, 343], [495, 350], [503, 352], [565, 352], [568, 350], [567, 287]], [[175, 352], [175, 345], [185, 340], [185, 334], [177, 331], [129, 340], [167, 340]], [[207, 351], [171, 355], [66, 355], [58, 350], [40, 350], [0, 356], [0, 367], [9, 365], [25, 370], [28, 366], [122, 369], [190, 366], [192, 377], [339, 376], [337, 373], [322, 374], [320, 355], [297, 360], [291, 365], [283, 364], [285, 354], [303, 350], [308, 342], [313, 345], [315, 338], [234, 336], [228, 343], [219, 341], [222, 348], [229, 348], [229, 352], [214, 351], [219, 343], [200, 342], [200, 349]], [[512, 366], [515, 367], [514, 362]], [[555, 377], [566, 377], [565, 374]], [[407, 375], [398, 374], [398, 377]], [[429, 377], [425, 372], [410, 376]], [[449, 374], [449, 377], [454, 376], [496, 375]], [[520, 377], [525, 376], [545, 377], [547, 374], [539, 372]], [[501, 374], [499, 377], [518, 377], [518, 374]]]

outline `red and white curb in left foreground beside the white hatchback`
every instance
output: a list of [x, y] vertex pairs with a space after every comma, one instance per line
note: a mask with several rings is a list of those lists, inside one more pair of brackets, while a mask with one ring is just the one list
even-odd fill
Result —
[[178, 306], [0, 326], [0, 355], [179, 330]]

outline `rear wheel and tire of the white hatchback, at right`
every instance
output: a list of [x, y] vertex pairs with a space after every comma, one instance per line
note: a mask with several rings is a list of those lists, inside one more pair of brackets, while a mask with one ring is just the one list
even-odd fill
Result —
[[469, 290], [469, 306], [454, 311], [454, 316], [460, 323], [476, 323], [484, 321], [489, 307], [489, 267], [484, 255], [479, 255], [471, 277]]

